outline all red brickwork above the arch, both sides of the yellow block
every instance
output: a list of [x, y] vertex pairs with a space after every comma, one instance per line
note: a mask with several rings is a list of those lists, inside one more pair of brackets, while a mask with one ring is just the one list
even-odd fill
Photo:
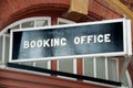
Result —
[[[0, 30], [17, 20], [28, 16], [38, 16], [45, 14], [51, 15], [53, 13], [53, 15], [55, 15], [57, 13], [61, 13], [60, 15], [62, 16], [62, 14], [65, 13], [69, 9], [69, 6], [70, 0], [1, 0]], [[98, 20], [99, 18], [99, 20], [121, 18], [121, 15], [115, 13], [115, 11], [111, 11], [105, 6], [109, 7], [109, 4], [105, 3], [104, 0], [90, 0], [89, 16], [93, 16], [95, 18], [95, 20]], [[114, 10], [114, 8], [112, 8], [112, 10]], [[85, 18], [85, 20], [83, 21], [90, 21], [90, 19]]]

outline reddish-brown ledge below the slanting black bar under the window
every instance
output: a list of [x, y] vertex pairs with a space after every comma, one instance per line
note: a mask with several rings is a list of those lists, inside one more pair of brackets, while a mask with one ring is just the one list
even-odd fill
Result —
[[1, 85], [6, 88], [109, 88], [89, 82], [6, 69], [0, 69], [0, 88]]

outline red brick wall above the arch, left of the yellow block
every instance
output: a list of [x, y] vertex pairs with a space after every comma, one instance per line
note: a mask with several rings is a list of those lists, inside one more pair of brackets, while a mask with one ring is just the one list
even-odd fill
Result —
[[[0, 0], [0, 30], [35, 10], [65, 10], [70, 0]], [[42, 11], [41, 11], [42, 12]]]

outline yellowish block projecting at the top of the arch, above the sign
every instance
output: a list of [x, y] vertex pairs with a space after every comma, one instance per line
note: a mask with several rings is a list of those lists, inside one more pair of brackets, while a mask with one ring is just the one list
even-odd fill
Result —
[[83, 15], [88, 15], [89, 0], [71, 0], [70, 8], [64, 18], [78, 21]]

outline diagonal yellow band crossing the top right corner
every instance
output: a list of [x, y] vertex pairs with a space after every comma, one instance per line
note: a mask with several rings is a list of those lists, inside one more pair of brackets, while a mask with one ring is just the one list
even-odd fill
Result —
[[125, 14], [129, 19], [133, 21], [133, 11], [131, 11], [125, 4], [123, 4], [120, 0], [105, 0], [111, 6], [117, 8], [123, 14]]

